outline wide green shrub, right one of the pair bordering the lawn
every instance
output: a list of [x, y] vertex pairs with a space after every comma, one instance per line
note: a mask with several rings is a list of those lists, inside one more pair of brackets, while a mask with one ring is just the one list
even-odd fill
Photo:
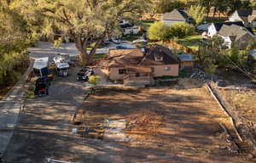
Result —
[[170, 37], [182, 38], [195, 33], [195, 27], [188, 23], [174, 23], [170, 28]]

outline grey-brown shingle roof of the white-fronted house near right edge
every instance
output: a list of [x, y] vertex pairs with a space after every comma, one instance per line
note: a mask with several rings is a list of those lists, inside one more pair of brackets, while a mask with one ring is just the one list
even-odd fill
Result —
[[239, 40], [244, 35], [248, 37], [254, 37], [253, 34], [247, 30], [247, 28], [238, 26], [238, 25], [223, 25], [221, 30], [218, 31], [218, 34], [224, 37], [236, 36], [236, 40]]

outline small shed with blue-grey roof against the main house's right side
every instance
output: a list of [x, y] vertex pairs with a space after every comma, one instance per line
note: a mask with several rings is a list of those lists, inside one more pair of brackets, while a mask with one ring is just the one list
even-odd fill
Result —
[[189, 54], [189, 53], [178, 54], [177, 59], [179, 60], [180, 70], [194, 67], [195, 59], [192, 54]]

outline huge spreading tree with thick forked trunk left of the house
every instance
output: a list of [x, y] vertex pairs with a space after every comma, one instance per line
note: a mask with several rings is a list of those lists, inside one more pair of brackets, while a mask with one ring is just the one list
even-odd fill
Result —
[[[79, 59], [90, 64], [102, 40], [119, 29], [119, 20], [135, 18], [147, 0], [16, 0], [33, 31], [52, 36], [61, 31], [79, 50]], [[39, 26], [39, 28], [38, 28]], [[92, 47], [90, 52], [86, 49]]]

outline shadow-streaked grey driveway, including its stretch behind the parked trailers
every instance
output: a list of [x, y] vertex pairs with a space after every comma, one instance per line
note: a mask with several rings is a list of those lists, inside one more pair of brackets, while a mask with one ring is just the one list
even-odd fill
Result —
[[[57, 53], [77, 54], [73, 43], [52, 48], [52, 44], [48, 42], [39, 42], [38, 48], [29, 50], [32, 58], [52, 59]], [[49, 96], [27, 99], [15, 132], [6, 133], [13, 134], [13, 137], [3, 154], [4, 161], [44, 162], [45, 157], [56, 158], [55, 155], [61, 155], [59, 152], [67, 149], [70, 120], [81, 105], [86, 91], [85, 83], [76, 82], [78, 70], [77, 67], [72, 68], [71, 75], [67, 78], [56, 77], [49, 88]], [[2, 140], [5, 139], [1, 137]]]

